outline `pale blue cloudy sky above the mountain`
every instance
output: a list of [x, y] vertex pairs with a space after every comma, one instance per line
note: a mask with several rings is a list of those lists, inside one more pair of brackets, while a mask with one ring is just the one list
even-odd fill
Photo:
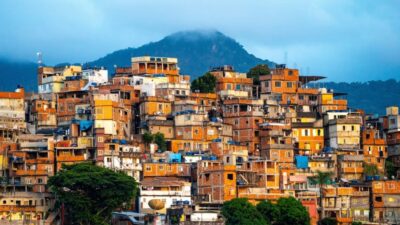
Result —
[[0, 57], [13, 60], [88, 62], [194, 29], [331, 81], [400, 77], [400, 0], [0, 1]]

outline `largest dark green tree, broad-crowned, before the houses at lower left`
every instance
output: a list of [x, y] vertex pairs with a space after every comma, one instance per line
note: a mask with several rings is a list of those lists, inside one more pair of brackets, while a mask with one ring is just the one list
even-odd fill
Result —
[[69, 224], [110, 224], [111, 212], [135, 197], [137, 183], [123, 172], [90, 163], [63, 165], [48, 181], [57, 205], [64, 205]]

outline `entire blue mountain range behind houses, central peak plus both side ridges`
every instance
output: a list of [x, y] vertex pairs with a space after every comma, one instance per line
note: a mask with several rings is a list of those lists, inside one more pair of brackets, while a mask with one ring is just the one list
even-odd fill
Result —
[[[177, 32], [141, 47], [117, 50], [91, 61], [89, 65], [106, 67], [112, 74], [114, 65], [130, 66], [132, 57], [143, 55], [178, 58], [181, 74], [191, 75], [192, 80], [214, 66], [229, 64], [237, 71], [247, 72], [257, 64], [275, 65], [274, 62], [248, 53], [237, 41], [215, 30]], [[58, 64], [64, 65], [68, 63]], [[37, 91], [36, 72], [36, 63], [0, 58], [0, 90], [13, 91], [17, 85], [22, 85], [27, 91]], [[400, 82], [394, 79], [328, 82], [324, 86], [348, 93], [349, 106], [364, 109], [367, 113], [384, 114], [385, 107], [397, 105], [400, 99]]]

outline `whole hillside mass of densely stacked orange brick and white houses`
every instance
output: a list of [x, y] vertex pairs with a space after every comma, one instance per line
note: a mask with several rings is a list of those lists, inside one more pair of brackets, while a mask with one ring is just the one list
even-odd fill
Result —
[[[221, 224], [225, 201], [293, 196], [312, 224], [400, 223], [400, 115], [350, 109], [343, 93], [276, 65], [259, 84], [213, 68], [213, 93], [192, 90], [178, 59], [131, 66], [38, 68], [38, 93], [0, 93], [0, 223], [57, 224], [46, 187], [62, 164], [92, 162], [139, 182], [132, 210]], [[146, 142], [162, 134], [165, 146]], [[330, 173], [326, 184], [312, 182]], [[155, 207], [156, 206], [156, 207]], [[202, 219], [199, 219], [202, 218]], [[220, 222], [220, 223], [219, 223]]]

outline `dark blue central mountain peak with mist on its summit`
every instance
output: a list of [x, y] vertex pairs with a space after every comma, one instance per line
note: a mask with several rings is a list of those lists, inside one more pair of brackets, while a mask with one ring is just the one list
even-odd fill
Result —
[[176, 57], [181, 74], [191, 75], [192, 79], [211, 67], [226, 64], [233, 65], [241, 72], [247, 72], [257, 64], [274, 65], [269, 60], [248, 53], [234, 39], [213, 30], [177, 32], [138, 48], [115, 51], [89, 64], [112, 69], [114, 65], [129, 66], [132, 57], [143, 55]]

